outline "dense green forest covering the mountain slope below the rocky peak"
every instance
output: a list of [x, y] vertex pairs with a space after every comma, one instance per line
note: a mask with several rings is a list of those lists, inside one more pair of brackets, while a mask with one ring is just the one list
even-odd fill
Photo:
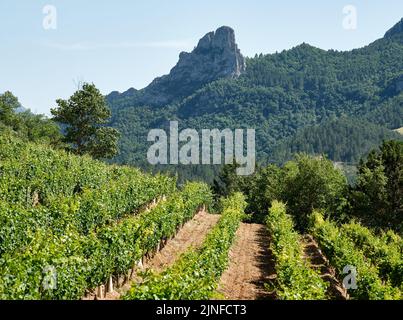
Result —
[[182, 128], [256, 128], [261, 163], [284, 163], [298, 151], [357, 163], [383, 140], [401, 139], [391, 131], [403, 126], [402, 23], [352, 51], [304, 43], [256, 55], [239, 78], [204, 84], [169, 105], [140, 103], [141, 90], [115, 92], [107, 96], [110, 124], [122, 133], [114, 161], [146, 167], [148, 131], [179, 120]]

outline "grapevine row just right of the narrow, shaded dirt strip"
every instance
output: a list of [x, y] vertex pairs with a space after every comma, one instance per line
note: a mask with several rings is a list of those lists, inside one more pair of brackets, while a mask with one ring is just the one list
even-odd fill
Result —
[[346, 275], [346, 266], [354, 266], [357, 270], [357, 288], [349, 290], [349, 295], [363, 300], [392, 300], [401, 299], [401, 292], [390, 282], [382, 281], [379, 270], [368, 260], [361, 248], [338, 228], [335, 223], [324, 220], [319, 212], [314, 212], [310, 218], [310, 229], [318, 241], [323, 253], [336, 268], [340, 279]]

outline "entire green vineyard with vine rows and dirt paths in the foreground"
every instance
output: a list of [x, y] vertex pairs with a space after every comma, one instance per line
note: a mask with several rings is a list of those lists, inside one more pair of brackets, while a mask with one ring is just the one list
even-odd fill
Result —
[[251, 224], [243, 194], [213, 199], [203, 183], [1, 136], [0, 299], [402, 299], [398, 234], [318, 210], [302, 234], [281, 201]]

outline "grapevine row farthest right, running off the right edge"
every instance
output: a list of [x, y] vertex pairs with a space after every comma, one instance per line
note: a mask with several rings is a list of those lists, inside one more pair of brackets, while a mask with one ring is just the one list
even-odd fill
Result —
[[376, 236], [373, 231], [352, 222], [341, 227], [362, 253], [376, 265], [383, 280], [403, 289], [403, 241], [393, 231]]

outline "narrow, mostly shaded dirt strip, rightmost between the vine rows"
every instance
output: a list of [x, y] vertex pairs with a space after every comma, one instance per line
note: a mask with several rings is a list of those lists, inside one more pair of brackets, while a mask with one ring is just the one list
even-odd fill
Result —
[[304, 259], [309, 261], [312, 268], [320, 273], [321, 278], [329, 284], [327, 294], [333, 300], [346, 300], [348, 295], [342, 283], [336, 278], [336, 271], [322, 253], [318, 243], [311, 235], [304, 235], [301, 239], [304, 247]]

